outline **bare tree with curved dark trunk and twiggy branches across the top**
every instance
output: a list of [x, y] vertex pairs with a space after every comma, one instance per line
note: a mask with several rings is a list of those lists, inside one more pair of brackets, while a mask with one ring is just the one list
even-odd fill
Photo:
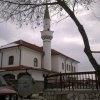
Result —
[[0, 18], [4, 21], [15, 21], [23, 25], [41, 24], [45, 5], [51, 12], [60, 13], [63, 10], [75, 22], [84, 42], [84, 52], [95, 70], [100, 70], [99, 64], [92, 55], [87, 33], [75, 15], [78, 6], [89, 7], [95, 0], [0, 0]]

